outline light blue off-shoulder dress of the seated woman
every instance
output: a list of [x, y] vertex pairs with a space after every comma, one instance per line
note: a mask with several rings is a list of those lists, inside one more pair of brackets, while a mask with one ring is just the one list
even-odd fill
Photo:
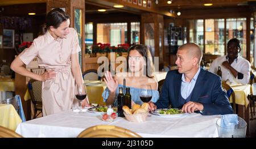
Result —
[[[119, 87], [123, 87], [123, 85], [118, 84], [117, 90], [115, 91], [115, 102], [113, 104], [114, 106], [117, 106], [117, 95], [118, 95]], [[126, 88], [127, 87], [129, 87], [129, 86], [126, 86]], [[130, 87], [131, 100], [133, 100], [135, 104], [139, 104], [139, 105], [143, 104], [143, 101], [141, 101], [141, 99], [139, 98], [141, 90], [142, 90], [141, 88]], [[151, 90], [151, 91], [152, 91], [152, 99], [150, 101], [155, 103], [159, 99], [159, 92], [156, 90]], [[102, 93], [102, 97], [103, 97], [104, 102], [106, 102], [106, 100], [108, 100], [108, 97], [109, 97], [108, 87]]]

